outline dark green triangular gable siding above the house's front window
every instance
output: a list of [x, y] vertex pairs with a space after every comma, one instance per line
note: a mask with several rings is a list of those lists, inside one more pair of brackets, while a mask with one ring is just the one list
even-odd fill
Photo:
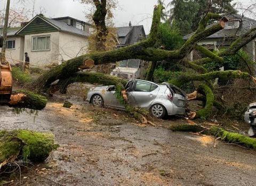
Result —
[[51, 33], [54, 31], [58, 31], [58, 29], [45, 22], [41, 18], [37, 17], [26, 28], [21, 30], [19, 35]]

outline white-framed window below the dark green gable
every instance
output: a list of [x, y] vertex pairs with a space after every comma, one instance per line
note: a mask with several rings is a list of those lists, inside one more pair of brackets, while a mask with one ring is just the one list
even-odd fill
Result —
[[50, 36], [32, 37], [32, 51], [50, 51]]

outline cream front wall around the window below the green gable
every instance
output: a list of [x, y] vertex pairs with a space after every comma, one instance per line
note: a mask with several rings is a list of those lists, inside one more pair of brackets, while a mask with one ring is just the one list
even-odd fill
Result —
[[[50, 36], [50, 51], [31, 51], [33, 36]], [[59, 32], [30, 34], [25, 36], [24, 52], [28, 53], [31, 66], [45, 67], [59, 62]]]

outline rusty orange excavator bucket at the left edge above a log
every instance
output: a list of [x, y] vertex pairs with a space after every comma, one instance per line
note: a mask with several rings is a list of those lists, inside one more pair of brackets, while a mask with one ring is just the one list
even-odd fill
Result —
[[9, 63], [0, 63], [0, 103], [10, 101], [12, 93], [12, 69]]

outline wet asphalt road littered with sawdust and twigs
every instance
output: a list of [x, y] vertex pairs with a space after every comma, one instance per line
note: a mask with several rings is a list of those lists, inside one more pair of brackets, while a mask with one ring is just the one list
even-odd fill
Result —
[[60, 144], [24, 185], [256, 185], [255, 151], [214, 148], [211, 136], [142, 126], [121, 111], [49, 102], [37, 115], [17, 115], [1, 106], [0, 123], [52, 132]]

